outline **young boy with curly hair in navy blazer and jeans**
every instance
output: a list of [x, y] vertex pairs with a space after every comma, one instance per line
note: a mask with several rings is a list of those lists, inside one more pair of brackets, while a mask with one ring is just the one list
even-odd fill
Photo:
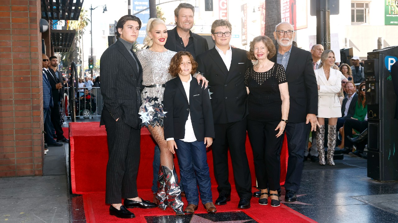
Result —
[[[207, 212], [217, 211], [213, 204], [206, 148], [213, 143], [214, 125], [209, 92], [192, 75], [197, 63], [192, 55], [180, 51], [172, 58], [169, 72], [176, 78], [166, 82], [164, 90], [164, 138], [170, 152], [177, 152], [181, 179], [188, 206], [194, 213], [199, 203], [197, 182]], [[174, 150], [176, 149], [176, 150]]]

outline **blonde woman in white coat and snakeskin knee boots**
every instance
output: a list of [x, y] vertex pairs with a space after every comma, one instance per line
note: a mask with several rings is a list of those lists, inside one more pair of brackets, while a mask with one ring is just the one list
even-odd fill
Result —
[[337, 93], [341, 89], [343, 74], [333, 69], [335, 62], [334, 52], [325, 50], [321, 55], [321, 65], [316, 69], [315, 77], [318, 84], [318, 122], [321, 125], [316, 130], [316, 144], [319, 153], [319, 164], [325, 165], [325, 118], [328, 118], [328, 163], [334, 165], [333, 155], [336, 146], [337, 118], [341, 117], [341, 105]]

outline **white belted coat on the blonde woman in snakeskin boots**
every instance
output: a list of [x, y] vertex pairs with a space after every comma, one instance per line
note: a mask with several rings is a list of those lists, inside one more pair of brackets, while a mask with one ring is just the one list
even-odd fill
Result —
[[336, 69], [330, 68], [329, 79], [326, 79], [323, 67], [315, 71], [318, 90], [318, 115], [321, 118], [341, 117], [341, 105], [337, 95], [341, 90], [341, 80], [345, 78]]

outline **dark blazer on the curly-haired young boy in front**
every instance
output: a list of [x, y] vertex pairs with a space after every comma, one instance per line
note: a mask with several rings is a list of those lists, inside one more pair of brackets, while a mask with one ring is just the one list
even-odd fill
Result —
[[185, 123], [191, 113], [193, 132], [196, 140], [203, 141], [205, 137], [215, 137], [213, 113], [211, 112], [208, 89], [201, 88], [196, 79], [192, 79], [189, 87], [189, 103], [181, 79], [176, 78], [166, 82], [164, 90], [164, 139], [185, 138]]

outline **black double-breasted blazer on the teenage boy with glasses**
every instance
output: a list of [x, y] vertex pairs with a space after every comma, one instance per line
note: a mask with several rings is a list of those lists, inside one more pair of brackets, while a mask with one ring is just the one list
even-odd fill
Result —
[[[240, 121], [248, 115], [248, 94], [244, 83], [246, 69], [252, 65], [246, 50], [232, 48], [229, 71], [216, 48], [197, 56], [197, 71], [211, 86], [211, 107], [215, 124]], [[315, 78], [315, 77], [314, 77]]]

